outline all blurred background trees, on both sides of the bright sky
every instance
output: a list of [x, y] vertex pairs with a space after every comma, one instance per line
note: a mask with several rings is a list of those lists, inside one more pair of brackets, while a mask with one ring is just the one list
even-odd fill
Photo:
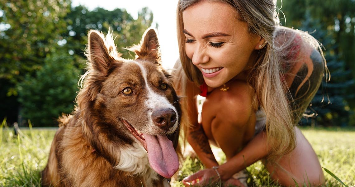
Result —
[[[281, 10], [282, 25], [323, 44], [331, 71], [307, 111], [315, 116], [303, 124], [354, 125], [355, 1], [284, 0]], [[75, 104], [88, 30], [113, 32], [123, 57], [132, 58], [122, 48], [137, 44], [152, 21], [147, 8], [135, 19], [124, 9], [88, 10], [70, 0], [0, 0], [0, 120], [56, 126]]]

